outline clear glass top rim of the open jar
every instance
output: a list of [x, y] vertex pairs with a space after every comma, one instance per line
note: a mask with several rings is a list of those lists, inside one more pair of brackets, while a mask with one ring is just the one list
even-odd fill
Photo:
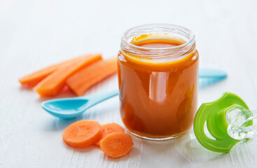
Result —
[[[130, 43], [127, 41], [126, 35], [132, 33], [133, 31], [137, 31], [139, 28], [152, 28], [152, 29], [158, 29], [158, 28], [167, 28], [167, 29], [177, 29], [182, 31], [184, 34], [188, 35], [188, 41], [186, 43], [183, 43], [181, 45], [176, 45], [172, 47], [166, 47], [166, 48], [146, 48], [138, 45], [134, 45], [133, 43]], [[125, 43], [125, 45], [128, 45], [129, 47], [136, 48], [139, 50], [172, 50], [172, 49], [178, 49], [186, 47], [187, 45], [190, 45], [191, 43], [195, 43], [195, 34], [190, 29], [187, 29], [186, 27], [182, 27], [179, 25], [172, 25], [172, 24], [147, 24], [147, 25], [139, 25], [136, 27], [132, 27], [130, 29], [127, 29], [123, 33], [123, 36], [121, 38], [121, 43]]]

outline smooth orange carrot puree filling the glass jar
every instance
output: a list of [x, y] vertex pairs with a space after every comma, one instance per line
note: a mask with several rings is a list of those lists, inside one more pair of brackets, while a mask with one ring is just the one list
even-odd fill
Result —
[[[134, 41], [144, 48], [183, 44], [170, 39]], [[183, 134], [197, 110], [198, 52], [166, 62], [144, 61], [142, 55], [118, 55], [120, 114], [128, 130], [143, 137]]]

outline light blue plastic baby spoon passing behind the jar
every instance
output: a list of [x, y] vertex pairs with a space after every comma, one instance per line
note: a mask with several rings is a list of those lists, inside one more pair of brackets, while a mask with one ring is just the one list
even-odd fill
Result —
[[[200, 69], [199, 78], [213, 78], [221, 80], [227, 76], [227, 73], [218, 69]], [[51, 115], [58, 118], [76, 118], [80, 116], [84, 111], [89, 109], [95, 104], [99, 104], [106, 99], [114, 97], [119, 94], [118, 90], [106, 92], [104, 94], [74, 97], [64, 99], [51, 99], [42, 102], [41, 106]]]

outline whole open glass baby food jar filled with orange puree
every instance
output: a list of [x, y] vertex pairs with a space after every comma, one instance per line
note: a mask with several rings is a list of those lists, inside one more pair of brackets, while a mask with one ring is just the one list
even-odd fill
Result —
[[179, 137], [197, 111], [198, 52], [192, 31], [142, 25], [125, 31], [118, 53], [120, 115], [137, 137]]

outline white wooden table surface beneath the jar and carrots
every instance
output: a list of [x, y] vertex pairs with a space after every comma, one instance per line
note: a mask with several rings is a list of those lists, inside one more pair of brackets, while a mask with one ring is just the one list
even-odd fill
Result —
[[[179, 139], [153, 143], [134, 139], [129, 155], [111, 160], [101, 150], [76, 150], [62, 132], [76, 120], [120, 125], [118, 97], [76, 120], [60, 120], [41, 109], [39, 96], [18, 78], [85, 53], [116, 55], [123, 31], [147, 23], [172, 23], [195, 32], [200, 66], [223, 69], [228, 78], [199, 90], [199, 105], [234, 92], [257, 109], [257, 1], [0, 1], [0, 167], [257, 167], [257, 141], [230, 153], [207, 151], [193, 130]], [[118, 88], [117, 77], [87, 94]], [[64, 96], [73, 96], [65, 94]]]

